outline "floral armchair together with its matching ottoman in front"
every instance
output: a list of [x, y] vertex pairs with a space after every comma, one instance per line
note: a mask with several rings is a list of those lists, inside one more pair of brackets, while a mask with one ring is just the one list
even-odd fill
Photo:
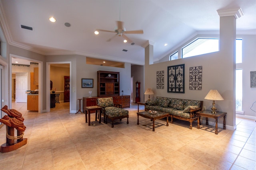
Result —
[[103, 107], [102, 111], [104, 114], [104, 122], [106, 117], [106, 123], [108, 123], [108, 118], [111, 119], [112, 125], [114, 127], [114, 120], [127, 117], [127, 124], [129, 124], [128, 118], [128, 110], [122, 109], [122, 105], [114, 104], [113, 98], [97, 98], [97, 105]]

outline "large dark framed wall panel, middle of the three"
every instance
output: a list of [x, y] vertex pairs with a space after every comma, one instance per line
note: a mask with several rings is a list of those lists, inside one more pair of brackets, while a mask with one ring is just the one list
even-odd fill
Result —
[[168, 90], [171, 93], [185, 93], [184, 88], [185, 64], [168, 66]]

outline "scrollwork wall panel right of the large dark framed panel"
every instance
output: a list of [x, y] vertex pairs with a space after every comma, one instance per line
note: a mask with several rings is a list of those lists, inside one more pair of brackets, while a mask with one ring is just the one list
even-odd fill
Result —
[[202, 66], [189, 68], [189, 90], [202, 90]]

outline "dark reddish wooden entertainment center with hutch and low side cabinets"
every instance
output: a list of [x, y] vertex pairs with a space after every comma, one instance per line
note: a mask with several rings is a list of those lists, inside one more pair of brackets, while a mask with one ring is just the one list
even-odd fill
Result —
[[122, 108], [130, 107], [130, 96], [120, 95], [119, 72], [97, 71], [97, 97], [83, 97], [84, 107], [95, 106], [97, 98], [113, 97], [113, 102]]

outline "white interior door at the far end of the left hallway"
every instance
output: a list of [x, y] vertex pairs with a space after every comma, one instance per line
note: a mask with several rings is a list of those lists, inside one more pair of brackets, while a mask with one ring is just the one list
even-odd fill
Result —
[[26, 103], [28, 89], [28, 78], [26, 76], [16, 77], [16, 102]]

